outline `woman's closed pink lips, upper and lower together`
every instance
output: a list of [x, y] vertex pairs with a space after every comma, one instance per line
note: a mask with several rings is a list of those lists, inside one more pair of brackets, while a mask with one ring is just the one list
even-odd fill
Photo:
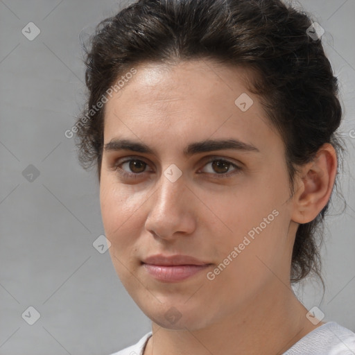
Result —
[[148, 275], [161, 282], [180, 282], [208, 268], [211, 263], [187, 255], [153, 255], [143, 262]]

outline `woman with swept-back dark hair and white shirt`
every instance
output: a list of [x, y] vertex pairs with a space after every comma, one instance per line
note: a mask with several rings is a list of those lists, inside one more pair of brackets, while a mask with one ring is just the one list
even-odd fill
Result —
[[152, 331], [120, 354], [354, 354], [291, 284], [343, 147], [320, 26], [279, 0], [140, 0], [87, 53], [80, 162], [96, 165], [121, 282]]

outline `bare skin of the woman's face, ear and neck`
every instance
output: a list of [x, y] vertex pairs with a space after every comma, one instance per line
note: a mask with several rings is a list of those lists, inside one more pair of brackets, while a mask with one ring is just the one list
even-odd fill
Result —
[[[313, 220], [329, 200], [334, 148], [324, 145], [314, 162], [302, 167], [290, 198], [284, 144], [259, 98], [248, 92], [252, 72], [209, 60], [173, 67], [145, 63], [136, 69], [106, 103], [104, 144], [131, 139], [155, 154], [104, 150], [100, 199], [117, 275], [152, 320], [153, 337], [144, 354], [282, 354], [322, 324], [306, 319], [289, 279], [298, 223]], [[242, 93], [254, 101], [246, 112], [234, 104]], [[205, 139], [239, 139], [259, 152], [183, 155], [188, 144]], [[221, 178], [222, 169], [208, 162], [211, 157], [240, 169], [227, 164], [230, 175]], [[146, 165], [121, 164], [123, 158]], [[175, 182], [164, 175], [171, 164], [182, 171]], [[273, 210], [279, 214], [262, 232], [207, 279], [207, 271]], [[160, 253], [214, 265], [182, 282], [160, 282], [141, 265]], [[166, 317], [171, 307], [180, 315], [177, 322]]]

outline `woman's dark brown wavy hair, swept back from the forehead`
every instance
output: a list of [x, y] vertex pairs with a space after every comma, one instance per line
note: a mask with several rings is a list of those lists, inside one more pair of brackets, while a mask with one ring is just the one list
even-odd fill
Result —
[[[259, 95], [284, 141], [292, 196], [297, 168], [323, 144], [332, 144], [338, 159], [344, 150], [336, 134], [342, 118], [337, 79], [321, 40], [307, 33], [310, 26], [306, 12], [280, 0], [139, 0], [101, 21], [86, 48], [89, 95], [75, 130], [80, 163], [96, 166], [100, 180], [105, 107], [83, 118], [121, 75], [146, 62], [210, 59], [257, 73], [250, 92]], [[312, 274], [322, 280], [318, 242], [329, 202], [298, 227], [291, 282]]]

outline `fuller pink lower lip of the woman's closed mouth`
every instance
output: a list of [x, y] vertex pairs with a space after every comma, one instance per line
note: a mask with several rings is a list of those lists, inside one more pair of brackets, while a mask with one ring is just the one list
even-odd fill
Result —
[[164, 266], [150, 265], [148, 263], [144, 263], [143, 265], [151, 276], [164, 282], [179, 282], [209, 267], [209, 265]]

